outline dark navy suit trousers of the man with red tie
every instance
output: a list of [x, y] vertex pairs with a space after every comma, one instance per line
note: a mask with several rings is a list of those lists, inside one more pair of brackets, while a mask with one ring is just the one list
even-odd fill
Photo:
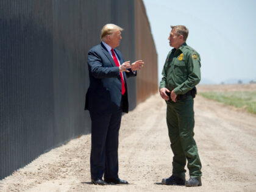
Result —
[[118, 178], [118, 136], [122, 109], [115, 113], [91, 116], [91, 179]]

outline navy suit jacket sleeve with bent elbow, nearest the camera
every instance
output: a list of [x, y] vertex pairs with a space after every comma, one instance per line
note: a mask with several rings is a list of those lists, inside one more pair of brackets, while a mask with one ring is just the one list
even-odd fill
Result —
[[95, 78], [102, 79], [120, 76], [119, 68], [117, 66], [103, 66], [101, 57], [95, 51], [91, 50], [88, 52], [87, 63], [92, 76]]

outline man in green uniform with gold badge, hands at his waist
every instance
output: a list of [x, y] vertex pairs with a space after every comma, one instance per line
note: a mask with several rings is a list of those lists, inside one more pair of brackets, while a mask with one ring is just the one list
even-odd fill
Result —
[[[160, 82], [160, 95], [167, 104], [166, 122], [169, 140], [174, 154], [172, 176], [163, 179], [164, 185], [201, 186], [201, 161], [194, 141], [194, 100], [195, 86], [201, 80], [200, 55], [187, 45], [188, 29], [185, 26], [171, 26], [169, 52], [163, 78]], [[185, 181], [185, 165], [188, 161], [190, 179]]]

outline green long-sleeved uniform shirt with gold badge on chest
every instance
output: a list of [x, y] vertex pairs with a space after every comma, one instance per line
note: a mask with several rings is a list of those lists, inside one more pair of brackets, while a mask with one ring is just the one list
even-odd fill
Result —
[[167, 55], [159, 89], [165, 87], [176, 94], [187, 93], [199, 84], [200, 67], [200, 55], [183, 43], [179, 49], [174, 48]]

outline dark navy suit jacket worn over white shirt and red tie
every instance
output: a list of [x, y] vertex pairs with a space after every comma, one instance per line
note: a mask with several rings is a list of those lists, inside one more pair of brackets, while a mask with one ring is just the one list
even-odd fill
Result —
[[[114, 49], [120, 64], [124, 63], [120, 51]], [[88, 69], [90, 87], [85, 98], [85, 110], [96, 113], [115, 113], [120, 109], [122, 98], [122, 83], [119, 68], [105, 48], [104, 44], [98, 44], [88, 52]], [[128, 89], [127, 77], [136, 76], [129, 69], [129, 73], [123, 72], [126, 93], [123, 95], [123, 112], [128, 113]]]

